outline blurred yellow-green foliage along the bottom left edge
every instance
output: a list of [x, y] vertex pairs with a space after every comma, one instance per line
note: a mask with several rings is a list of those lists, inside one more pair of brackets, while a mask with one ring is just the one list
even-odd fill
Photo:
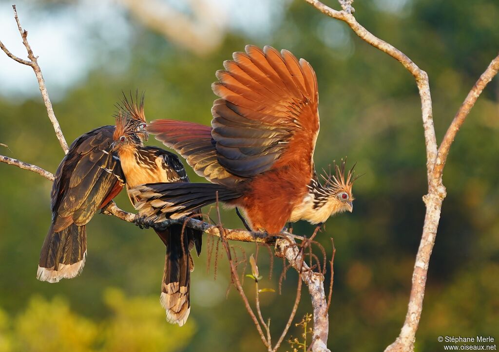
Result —
[[92, 321], [71, 311], [66, 299], [48, 301], [31, 297], [24, 312], [6, 322], [0, 311], [0, 351], [179, 351], [196, 327], [164, 324], [164, 315], [151, 297], [126, 298], [118, 289], [107, 289], [104, 302], [109, 316]]

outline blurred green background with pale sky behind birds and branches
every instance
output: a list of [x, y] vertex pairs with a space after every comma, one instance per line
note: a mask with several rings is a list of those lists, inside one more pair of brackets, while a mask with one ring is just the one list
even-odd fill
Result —
[[[10, 7], [0, 1], [0, 39], [25, 57]], [[327, 3], [338, 8], [336, 1]], [[498, 53], [495, 0], [356, 1], [355, 16], [430, 77], [440, 140], [459, 105]], [[336, 245], [329, 346], [381, 351], [405, 318], [427, 190], [421, 107], [413, 77], [359, 40], [342, 22], [299, 0], [17, 1], [68, 143], [112, 124], [121, 91], [146, 91], [146, 115], [208, 124], [215, 71], [248, 43], [286, 48], [318, 76], [318, 168], [348, 156], [365, 174], [355, 210], [328, 220], [319, 241]], [[499, 80], [480, 97], [459, 132], [444, 173], [442, 209], [417, 351], [440, 351], [438, 336], [499, 339]], [[0, 53], [0, 154], [54, 172], [63, 157], [32, 70]], [[151, 144], [159, 145], [153, 138]], [[202, 181], [188, 170], [191, 179]], [[152, 230], [98, 214], [87, 227], [81, 276], [58, 284], [35, 278], [50, 223], [51, 183], [0, 164], [0, 351], [264, 351], [241, 298], [228, 291], [222, 251], [192, 277], [192, 310], [183, 328], [159, 304], [164, 247]], [[123, 192], [122, 192], [123, 193]], [[119, 206], [132, 210], [125, 194]], [[206, 209], [208, 211], [208, 209]], [[227, 227], [240, 227], [223, 212]], [[295, 233], [312, 226], [297, 223]], [[247, 255], [253, 244], [243, 244]], [[263, 253], [263, 254], [262, 254]], [[240, 254], [242, 256], [242, 254]], [[210, 258], [208, 258], [210, 257]], [[210, 259], [210, 260], [209, 260]], [[260, 286], [278, 288], [265, 251]], [[215, 267], [217, 271], [215, 273]], [[262, 309], [280, 335], [294, 300], [289, 272]], [[329, 280], [329, 276], [326, 277]], [[253, 286], [245, 289], [253, 299]], [[303, 294], [295, 322], [311, 312]], [[292, 326], [289, 335], [299, 336]], [[290, 350], [283, 343], [282, 351]]]

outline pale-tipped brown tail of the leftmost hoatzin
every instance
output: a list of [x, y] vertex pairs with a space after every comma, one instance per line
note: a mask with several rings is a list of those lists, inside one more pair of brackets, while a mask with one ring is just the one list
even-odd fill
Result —
[[59, 232], [50, 226], [40, 253], [36, 277], [50, 283], [70, 279], [81, 273], [87, 254], [85, 225], [74, 223]]

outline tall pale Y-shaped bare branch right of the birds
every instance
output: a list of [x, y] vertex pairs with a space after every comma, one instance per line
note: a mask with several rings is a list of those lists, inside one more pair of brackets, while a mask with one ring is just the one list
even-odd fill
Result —
[[[471, 90], [460, 110], [456, 114], [449, 130], [447, 131], [440, 149], [437, 149], [437, 139], [435, 135], [435, 128], [432, 116], [432, 101], [430, 94], [430, 85], [428, 82], [428, 75], [425, 71], [421, 70], [409, 57], [407, 57], [400, 50], [393, 45], [377, 38], [371, 34], [367, 29], [362, 27], [351, 13], [348, 13], [347, 7], [351, 4], [348, 0], [339, 0], [343, 7], [343, 11], [337, 11], [322, 2], [317, 0], [305, 0], [312, 4], [321, 12], [342, 20], [352, 28], [352, 30], [364, 41], [376, 47], [377, 49], [387, 53], [396, 60], [398, 60], [416, 79], [416, 84], [419, 89], [421, 97], [421, 108], [423, 117], [423, 128], [425, 133], [426, 144], [426, 169], [428, 178], [428, 194], [423, 197], [426, 204], [426, 216], [423, 225], [423, 234], [421, 242], [416, 255], [414, 265], [414, 272], [412, 277], [412, 289], [409, 299], [408, 311], [406, 320], [401, 333], [397, 340], [390, 345], [385, 351], [413, 351], [416, 331], [421, 319], [421, 312], [423, 310], [423, 298], [426, 288], [426, 278], [428, 273], [428, 265], [430, 256], [435, 244], [437, 235], [437, 228], [440, 221], [440, 212], [442, 209], [442, 202], [446, 196], [446, 190], [442, 184], [442, 173], [449, 153], [449, 148], [452, 145], [457, 131], [464, 122], [470, 109], [475, 104], [482, 90], [490, 82], [490, 80], [498, 73], [499, 57], [496, 57], [488, 69], [484, 72], [482, 77], [478, 80], [475, 87]], [[351, 12], [351, 11], [350, 11]]]

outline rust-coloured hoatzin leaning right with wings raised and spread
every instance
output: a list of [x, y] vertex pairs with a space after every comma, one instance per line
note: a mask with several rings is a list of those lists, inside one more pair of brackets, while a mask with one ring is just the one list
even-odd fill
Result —
[[221, 99], [212, 126], [156, 120], [146, 130], [186, 158], [214, 184], [146, 184], [131, 190], [146, 221], [180, 217], [218, 199], [243, 209], [254, 231], [271, 234], [286, 221], [320, 224], [353, 210], [353, 168], [319, 181], [313, 152], [319, 133], [315, 72], [287, 50], [247, 45], [217, 71], [212, 89]]

